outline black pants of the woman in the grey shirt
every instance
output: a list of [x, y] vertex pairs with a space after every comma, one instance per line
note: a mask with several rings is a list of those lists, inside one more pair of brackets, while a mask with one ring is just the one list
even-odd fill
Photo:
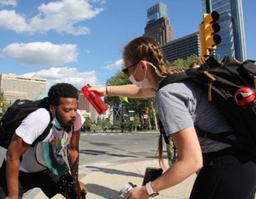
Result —
[[190, 199], [255, 199], [256, 163], [238, 156], [204, 156]]

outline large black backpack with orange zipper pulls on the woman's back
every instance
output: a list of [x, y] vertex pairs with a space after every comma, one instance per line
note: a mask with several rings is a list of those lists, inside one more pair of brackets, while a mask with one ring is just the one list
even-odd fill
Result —
[[[173, 82], [193, 80], [202, 86], [202, 89], [208, 93], [208, 99], [212, 101], [220, 112], [228, 119], [233, 132], [223, 132], [220, 134], [211, 134], [202, 131], [196, 127], [198, 136], [215, 139], [227, 144], [231, 144], [235, 149], [242, 150], [248, 156], [256, 158], [256, 100], [250, 104], [239, 106], [235, 99], [246, 98], [243, 93], [238, 94], [241, 88], [252, 90], [252, 99], [255, 98], [256, 87], [256, 65], [254, 61], [247, 60], [240, 63], [237, 60], [225, 56], [221, 63], [213, 57], [209, 57], [206, 63], [196, 69], [188, 69], [174, 75], [169, 75], [160, 82], [161, 87]], [[235, 95], [235, 98], [234, 98]], [[239, 100], [239, 99], [238, 99]], [[246, 99], [245, 99], [246, 102]], [[230, 134], [235, 134], [237, 140], [227, 139]]]

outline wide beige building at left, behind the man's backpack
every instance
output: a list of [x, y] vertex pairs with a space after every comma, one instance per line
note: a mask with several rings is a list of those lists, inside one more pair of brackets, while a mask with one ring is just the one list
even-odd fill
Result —
[[35, 100], [38, 95], [46, 95], [47, 80], [40, 77], [26, 77], [15, 74], [0, 75], [0, 90], [4, 101], [13, 104], [16, 99]]

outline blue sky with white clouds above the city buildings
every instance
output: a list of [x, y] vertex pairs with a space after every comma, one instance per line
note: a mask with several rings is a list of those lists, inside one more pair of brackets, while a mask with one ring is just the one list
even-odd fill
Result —
[[[142, 36], [154, 0], [0, 0], [0, 73], [105, 85], [122, 65], [122, 48]], [[162, 0], [174, 39], [198, 31], [201, 0]], [[247, 58], [256, 60], [256, 1], [242, 1]]]

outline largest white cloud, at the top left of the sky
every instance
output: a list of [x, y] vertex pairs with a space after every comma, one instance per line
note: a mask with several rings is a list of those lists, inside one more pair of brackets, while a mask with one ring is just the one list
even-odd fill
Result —
[[78, 36], [89, 33], [90, 29], [75, 24], [93, 18], [101, 11], [102, 8], [93, 8], [87, 0], [55, 1], [38, 6], [38, 14], [28, 19], [16, 11], [0, 11], [0, 27], [17, 33], [56, 31]]

